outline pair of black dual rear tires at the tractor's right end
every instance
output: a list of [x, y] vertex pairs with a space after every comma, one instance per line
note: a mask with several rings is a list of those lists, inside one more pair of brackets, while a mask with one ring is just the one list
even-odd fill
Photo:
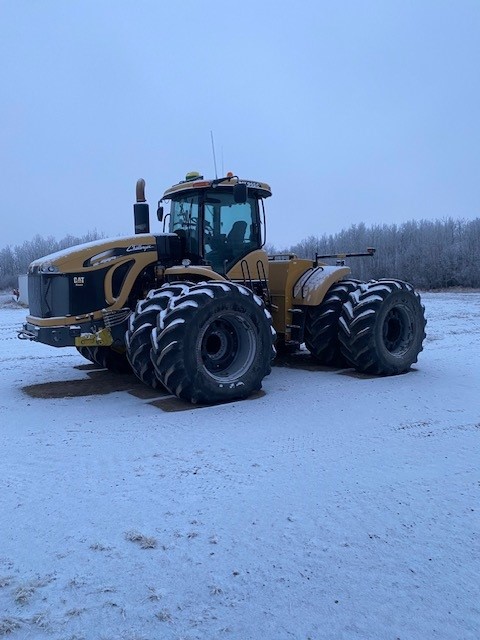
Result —
[[374, 375], [405, 373], [425, 339], [425, 313], [412, 285], [343, 280], [307, 309], [305, 344], [315, 359]]

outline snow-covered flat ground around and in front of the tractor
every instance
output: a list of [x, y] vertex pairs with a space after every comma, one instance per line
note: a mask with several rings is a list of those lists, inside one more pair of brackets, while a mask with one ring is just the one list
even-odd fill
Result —
[[195, 408], [0, 308], [0, 638], [478, 640], [480, 293], [371, 378]]

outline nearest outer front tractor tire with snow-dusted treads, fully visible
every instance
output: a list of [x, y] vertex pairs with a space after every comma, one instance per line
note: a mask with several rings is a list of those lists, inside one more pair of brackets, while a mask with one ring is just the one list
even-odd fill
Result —
[[152, 331], [159, 380], [177, 397], [213, 404], [258, 391], [275, 357], [262, 300], [233, 282], [204, 282], [171, 301]]

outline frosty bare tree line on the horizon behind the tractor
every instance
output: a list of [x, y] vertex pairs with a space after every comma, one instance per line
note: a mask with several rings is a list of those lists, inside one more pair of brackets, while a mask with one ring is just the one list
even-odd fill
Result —
[[[36, 235], [21, 245], [7, 246], [0, 250], [0, 287], [17, 286], [18, 275], [26, 273], [30, 262], [37, 258], [102, 237], [96, 230], [61, 240]], [[376, 248], [373, 258], [346, 261], [353, 275], [361, 280], [399, 278], [422, 289], [480, 287], [480, 218], [411, 220], [401, 225], [370, 227], [354, 224], [333, 235], [309, 236], [281, 252], [314, 259], [316, 254], [360, 252], [367, 247]], [[267, 250], [279, 252], [272, 245]]]

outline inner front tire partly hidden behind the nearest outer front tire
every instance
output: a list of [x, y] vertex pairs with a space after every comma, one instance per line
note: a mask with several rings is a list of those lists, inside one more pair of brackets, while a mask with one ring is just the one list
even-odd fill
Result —
[[150, 359], [152, 350], [151, 333], [157, 325], [157, 316], [164, 311], [172, 298], [181, 296], [189, 290], [190, 283], [165, 284], [160, 289], [152, 289], [144, 300], [137, 303], [129, 318], [125, 333], [127, 357], [135, 375], [153, 389], [162, 387], [155, 375]]

